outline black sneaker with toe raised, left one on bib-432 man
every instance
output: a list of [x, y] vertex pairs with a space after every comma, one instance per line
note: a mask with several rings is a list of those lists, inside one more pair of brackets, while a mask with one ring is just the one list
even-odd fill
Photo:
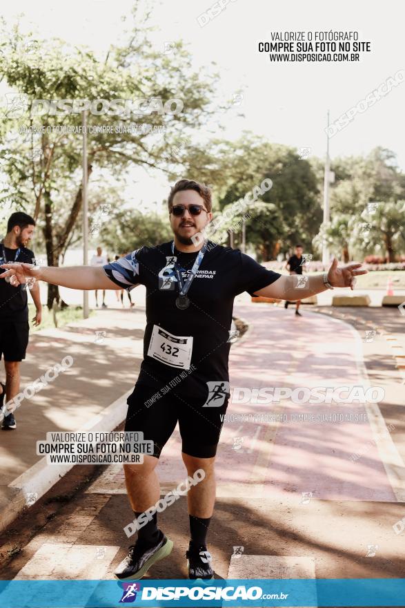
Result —
[[137, 540], [135, 544], [130, 545], [130, 551], [117, 567], [115, 576], [120, 580], [125, 578], [138, 580], [146, 574], [153, 564], [170, 555], [172, 548], [172, 541], [164, 533], [161, 533], [159, 542], [153, 547]]

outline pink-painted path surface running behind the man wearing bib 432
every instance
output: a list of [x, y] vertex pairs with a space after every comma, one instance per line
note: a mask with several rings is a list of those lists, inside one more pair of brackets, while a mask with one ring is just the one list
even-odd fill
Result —
[[[250, 323], [250, 331], [232, 350], [232, 387], [293, 390], [367, 385], [362, 343], [350, 325], [307, 312], [305, 318], [296, 319], [289, 311], [264, 309], [259, 304], [241, 305], [236, 312]], [[218, 451], [219, 495], [246, 496], [246, 484], [251, 484], [249, 492], [273, 498], [311, 492], [324, 500], [396, 501], [377, 444], [373, 444], [375, 429], [369, 421], [354, 422], [356, 415], [367, 419], [364, 405], [294, 404], [289, 400], [277, 406], [230, 403], [228, 413], [235, 418], [253, 413], [284, 415], [287, 421], [225, 422]], [[295, 415], [302, 413], [336, 414], [338, 420], [340, 415], [343, 419], [349, 415], [353, 421], [295, 422]], [[241, 448], [234, 449], [238, 442]], [[369, 443], [372, 446], [362, 459], [350, 459]], [[168, 487], [184, 475], [180, 451], [177, 429], [159, 464], [161, 481]], [[121, 477], [119, 471], [117, 479]]]

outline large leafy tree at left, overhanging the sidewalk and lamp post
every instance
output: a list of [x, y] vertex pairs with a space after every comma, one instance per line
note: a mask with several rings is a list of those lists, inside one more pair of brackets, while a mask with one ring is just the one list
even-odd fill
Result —
[[[2, 198], [17, 202], [39, 219], [48, 265], [59, 264], [81, 211], [81, 135], [57, 129], [79, 129], [81, 112], [77, 108], [82, 99], [148, 100], [135, 115], [136, 122], [131, 122], [133, 116], [88, 115], [89, 128], [101, 129], [88, 135], [89, 179], [96, 169], [124, 176], [134, 164], [168, 172], [173, 161], [163, 152], [175, 149], [180, 137], [199, 129], [210, 113], [215, 76], [193, 72], [190, 56], [180, 42], [171, 55], [154, 50], [148, 37], [148, 17], [139, 15], [138, 2], [132, 18], [126, 44], [111, 46], [103, 59], [87, 48], [68, 48], [60, 40], [26, 37], [18, 25], [10, 29], [1, 21], [0, 77], [12, 92], [23, 95], [17, 99], [19, 106], [14, 103], [0, 120], [2, 171], [8, 175]], [[177, 114], [161, 113], [153, 101], [165, 103], [179, 96], [184, 108]], [[37, 126], [32, 106], [31, 114], [25, 107], [34, 99], [73, 99], [76, 105], [72, 109], [77, 113], [55, 108], [55, 114], [48, 111], [40, 116], [39, 133], [19, 136], [19, 129]], [[96, 112], [100, 105], [103, 108], [98, 104]], [[46, 106], [37, 108], [43, 111]], [[123, 132], [131, 125], [135, 132]], [[106, 131], [108, 127], [112, 131]], [[63, 200], [61, 207], [57, 200]], [[49, 285], [48, 307], [54, 299], [59, 301], [58, 288]]]

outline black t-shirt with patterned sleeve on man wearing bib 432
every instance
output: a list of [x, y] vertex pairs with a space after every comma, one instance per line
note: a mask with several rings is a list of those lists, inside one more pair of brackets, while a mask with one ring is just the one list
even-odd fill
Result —
[[[111, 281], [128, 291], [135, 285], [146, 286], [144, 361], [137, 384], [155, 386], [159, 390], [181, 374], [181, 368], [148, 355], [152, 330], [157, 332], [157, 328], [154, 330], [157, 325], [174, 336], [192, 336], [189, 371], [180, 375], [181, 381], [173, 390], [177, 394], [201, 395], [206, 393], [208, 381], [229, 380], [228, 340], [235, 296], [245, 291], [254, 295], [281, 275], [267, 270], [239, 249], [208, 241], [208, 251], [188, 291], [190, 305], [186, 310], [179, 310], [175, 304], [179, 295], [175, 271], [168, 267], [172, 261], [171, 245], [170, 242], [157, 247], [141, 247], [103, 268]], [[175, 249], [174, 255], [186, 281], [197, 252], [187, 254]], [[168, 276], [172, 277], [173, 288], [159, 289]], [[181, 348], [181, 344], [178, 346]], [[172, 345], [163, 348], [170, 352]]]

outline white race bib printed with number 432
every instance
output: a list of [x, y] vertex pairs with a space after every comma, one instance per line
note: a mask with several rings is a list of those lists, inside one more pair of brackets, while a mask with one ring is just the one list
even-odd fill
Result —
[[148, 348], [148, 357], [181, 370], [190, 369], [192, 336], [175, 336], [153, 325]]

